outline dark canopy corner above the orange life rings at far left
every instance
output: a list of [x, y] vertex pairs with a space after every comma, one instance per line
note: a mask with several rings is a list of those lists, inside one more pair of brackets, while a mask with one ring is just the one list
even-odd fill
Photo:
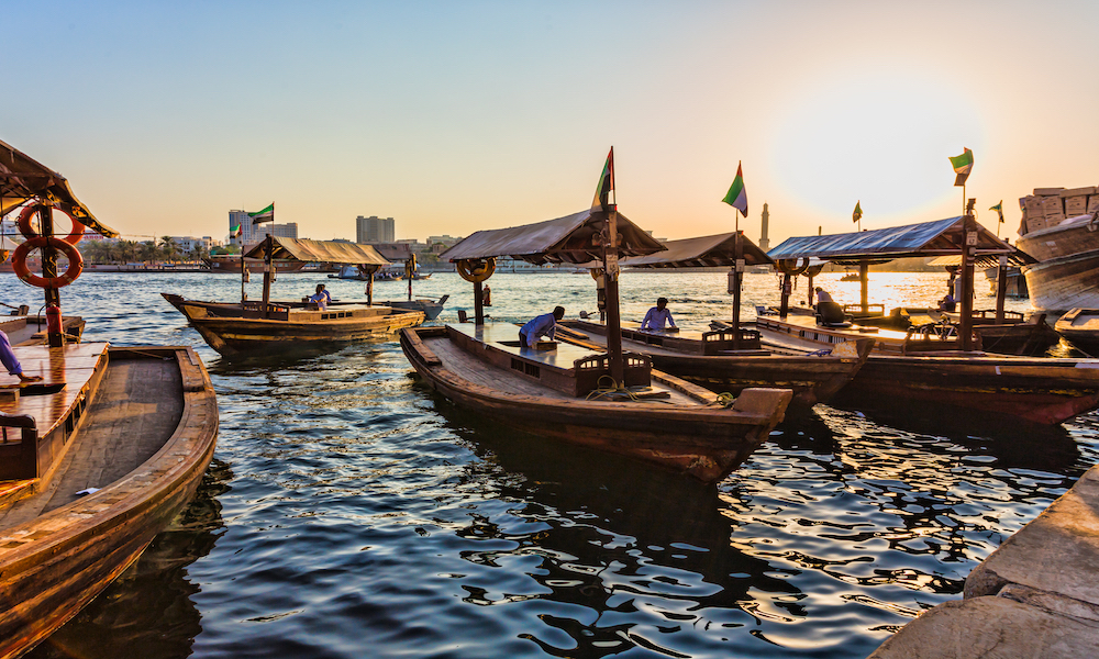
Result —
[[102, 224], [80, 203], [65, 177], [23, 152], [0, 142], [0, 216], [26, 202], [48, 202], [108, 238], [119, 232]]

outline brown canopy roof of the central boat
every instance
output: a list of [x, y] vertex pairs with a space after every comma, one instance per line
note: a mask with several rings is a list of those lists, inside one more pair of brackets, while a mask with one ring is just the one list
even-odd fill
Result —
[[[535, 224], [478, 231], [440, 255], [441, 259], [459, 261], [510, 256], [532, 264], [587, 264], [601, 259], [596, 234], [602, 228], [603, 213], [580, 211], [565, 217]], [[636, 224], [618, 214], [619, 254], [645, 256], [665, 247]]]

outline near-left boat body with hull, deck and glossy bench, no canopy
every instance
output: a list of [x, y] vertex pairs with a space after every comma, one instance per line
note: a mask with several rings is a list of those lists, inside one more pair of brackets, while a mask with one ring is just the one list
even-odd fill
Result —
[[45, 380], [0, 390], [2, 658], [37, 645], [137, 560], [195, 493], [218, 435], [191, 348], [15, 350]]

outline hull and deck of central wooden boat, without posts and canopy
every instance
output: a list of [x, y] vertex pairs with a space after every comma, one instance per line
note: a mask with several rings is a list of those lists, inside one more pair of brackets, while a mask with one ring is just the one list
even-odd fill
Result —
[[568, 344], [521, 349], [519, 328], [458, 324], [401, 332], [401, 348], [432, 389], [513, 427], [671, 468], [713, 482], [784, 417], [791, 392], [746, 389], [731, 406], [628, 355], [631, 393], [598, 391], [608, 356]]

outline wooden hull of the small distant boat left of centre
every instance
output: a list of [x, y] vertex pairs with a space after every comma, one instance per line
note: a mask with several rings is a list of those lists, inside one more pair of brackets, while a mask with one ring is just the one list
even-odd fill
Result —
[[277, 306], [270, 314], [273, 317], [262, 317], [260, 312], [242, 309], [240, 304], [162, 294], [187, 317], [211, 348], [225, 357], [382, 338], [424, 320], [422, 311], [363, 305], [335, 305], [325, 312]]

